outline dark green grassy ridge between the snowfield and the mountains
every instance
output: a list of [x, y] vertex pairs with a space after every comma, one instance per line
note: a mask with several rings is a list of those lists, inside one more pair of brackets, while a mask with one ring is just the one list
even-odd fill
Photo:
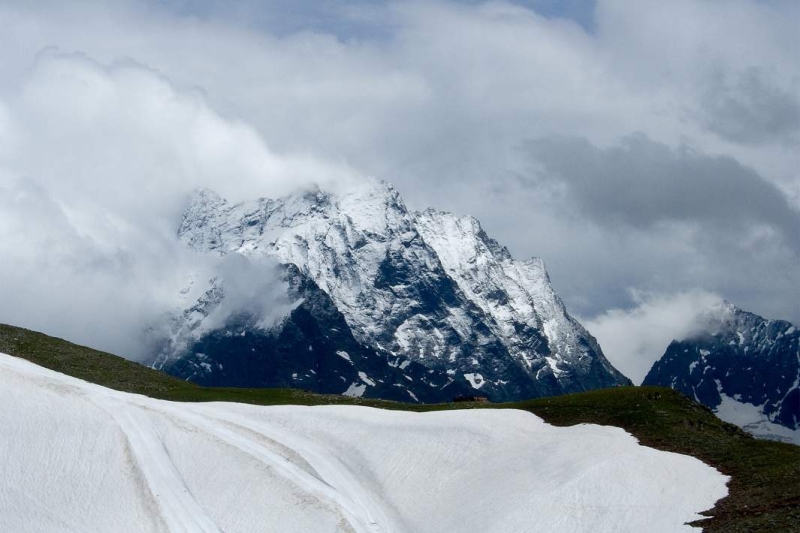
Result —
[[199, 387], [121, 357], [7, 325], [0, 325], [0, 352], [112, 389], [165, 400], [336, 403], [411, 411], [513, 408], [559, 426], [618, 426], [642, 444], [692, 455], [732, 477], [729, 496], [696, 524], [706, 531], [800, 531], [800, 447], [753, 439], [671, 389], [623, 387], [506, 404], [412, 405], [291, 389]]

